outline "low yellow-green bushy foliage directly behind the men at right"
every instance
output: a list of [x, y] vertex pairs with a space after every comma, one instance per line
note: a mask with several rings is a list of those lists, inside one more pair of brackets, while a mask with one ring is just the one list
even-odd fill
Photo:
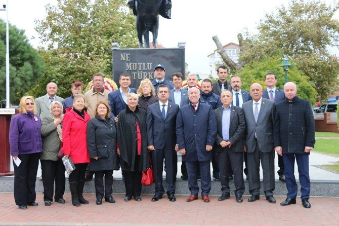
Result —
[[[278, 60], [277, 60], [278, 59]], [[249, 87], [253, 83], [259, 83], [266, 88], [265, 74], [269, 71], [277, 75], [277, 87], [283, 89], [285, 83], [284, 70], [280, 66], [282, 59], [278, 56], [266, 57], [260, 61], [253, 61], [251, 64], [246, 64], [241, 71], [237, 73], [242, 80], [241, 88], [249, 90]], [[288, 81], [294, 82], [298, 89], [298, 96], [304, 99], [308, 99], [311, 104], [315, 103], [316, 91], [312, 86], [312, 82], [309, 82], [309, 77], [303, 75], [297, 67], [291, 67], [288, 70]]]

